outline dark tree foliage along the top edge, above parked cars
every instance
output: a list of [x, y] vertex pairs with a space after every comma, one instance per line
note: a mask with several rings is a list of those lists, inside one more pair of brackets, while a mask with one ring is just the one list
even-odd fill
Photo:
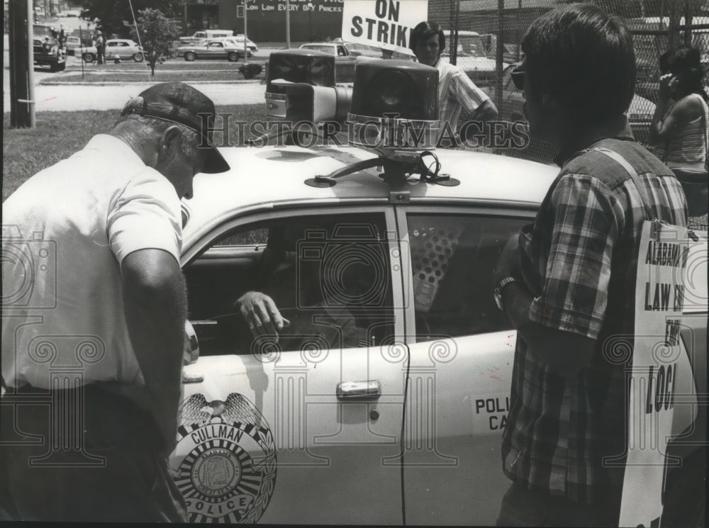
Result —
[[[135, 15], [143, 9], [159, 9], [169, 18], [179, 18], [184, 9], [183, 0], [132, 0]], [[82, 18], [91, 21], [98, 19], [96, 24], [104, 31], [104, 35], [116, 33], [119, 37], [128, 36], [128, 30], [123, 21], [133, 21], [130, 2], [126, 0], [83, 0]]]

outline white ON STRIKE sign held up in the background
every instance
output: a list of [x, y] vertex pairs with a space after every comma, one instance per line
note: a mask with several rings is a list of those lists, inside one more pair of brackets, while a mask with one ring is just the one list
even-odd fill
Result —
[[345, 0], [342, 40], [411, 52], [411, 30], [428, 20], [428, 0]]

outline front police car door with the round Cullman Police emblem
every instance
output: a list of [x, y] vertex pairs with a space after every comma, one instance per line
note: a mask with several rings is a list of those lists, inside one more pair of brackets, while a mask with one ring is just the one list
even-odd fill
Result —
[[[200, 358], [170, 465], [192, 522], [401, 524], [408, 354], [384, 207], [255, 213], [189, 249]], [[252, 337], [235, 300], [290, 324]]]

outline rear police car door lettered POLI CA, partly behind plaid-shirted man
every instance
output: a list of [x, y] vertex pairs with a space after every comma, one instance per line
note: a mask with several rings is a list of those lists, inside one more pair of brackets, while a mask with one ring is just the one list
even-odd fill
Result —
[[515, 332], [493, 269], [532, 210], [398, 208], [410, 347], [404, 419], [408, 524], [494, 525]]

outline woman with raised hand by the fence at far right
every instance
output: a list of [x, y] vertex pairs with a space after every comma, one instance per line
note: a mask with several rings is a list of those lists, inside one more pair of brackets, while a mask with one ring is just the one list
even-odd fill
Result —
[[679, 45], [660, 57], [657, 106], [649, 142], [676, 174], [687, 196], [688, 227], [707, 230], [709, 208], [708, 96], [696, 47]]

